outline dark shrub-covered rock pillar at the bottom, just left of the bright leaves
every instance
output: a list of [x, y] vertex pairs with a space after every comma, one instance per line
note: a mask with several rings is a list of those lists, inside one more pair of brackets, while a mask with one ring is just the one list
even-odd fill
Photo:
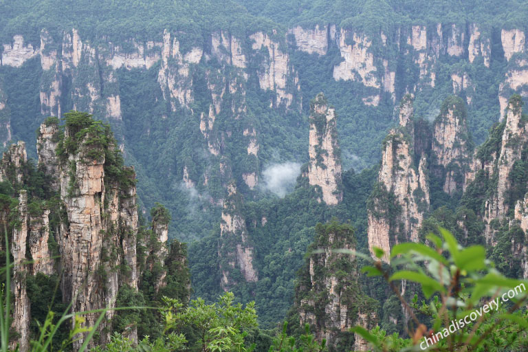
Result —
[[[311, 325], [316, 338], [326, 339], [336, 351], [368, 351], [366, 341], [358, 335], [355, 344], [347, 345], [352, 334], [348, 331], [354, 325], [371, 329], [377, 322], [377, 303], [360, 289], [355, 257], [334, 252], [355, 249], [352, 228], [336, 221], [317, 225], [309, 252], [316, 249], [322, 252], [309, 256], [296, 287], [294, 307], [300, 325]], [[340, 270], [349, 275], [339, 276]]]

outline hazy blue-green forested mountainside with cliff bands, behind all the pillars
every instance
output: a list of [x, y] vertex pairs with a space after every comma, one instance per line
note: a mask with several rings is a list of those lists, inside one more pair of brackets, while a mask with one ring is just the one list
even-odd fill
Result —
[[481, 1], [1, 6], [2, 142], [32, 146], [43, 117], [94, 113], [136, 166], [140, 202], [164, 201], [184, 239], [217, 223], [231, 178], [259, 198], [268, 166], [307, 161], [303, 119], [320, 91], [341, 117], [343, 166], [358, 170], [380, 157], [407, 92], [429, 119], [461, 95], [479, 143], [527, 80], [522, 3], [496, 17]]

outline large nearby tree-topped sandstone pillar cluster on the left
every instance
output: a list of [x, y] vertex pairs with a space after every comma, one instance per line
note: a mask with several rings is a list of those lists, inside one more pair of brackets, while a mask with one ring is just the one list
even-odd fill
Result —
[[[53, 203], [43, 203], [45, 199], [21, 190], [16, 210], [18, 221], [10, 240], [15, 263], [13, 329], [19, 334], [12, 344], [19, 343], [21, 351], [28, 351], [30, 340], [30, 301], [25, 275], [57, 272], [50, 242], [57, 243], [60, 254], [63, 300], [72, 302], [74, 312], [112, 308], [120, 287], [137, 289], [141, 270], [145, 270], [144, 263], [138, 261], [138, 248], [149, 258], [154, 257], [151, 252], [155, 250], [155, 261], [161, 262], [162, 268], [168, 256], [170, 217], [166, 210], [153, 216], [155, 241], [137, 241], [135, 173], [133, 168], [122, 165], [110, 130], [102, 128], [86, 113], [67, 113], [63, 134], [59, 133], [57, 123], [57, 119], [50, 118], [41, 125], [38, 151], [39, 169], [45, 174], [41, 177], [56, 179], [42, 191], [50, 192], [50, 197], [58, 196], [60, 202], [47, 208], [46, 204]], [[10, 181], [18, 189], [32, 175], [27, 164], [25, 144], [13, 144], [3, 155], [0, 179]], [[2, 219], [6, 211], [2, 210]], [[50, 228], [51, 216], [60, 222], [56, 228]], [[25, 261], [32, 263], [27, 265]], [[165, 276], [166, 270], [162, 270], [157, 289], [165, 285]], [[115, 311], [107, 311], [99, 327], [102, 343], [109, 340], [114, 315]], [[91, 326], [98, 315], [87, 314], [85, 318], [85, 325]], [[132, 338], [137, 336], [135, 329], [130, 328]], [[81, 337], [74, 348], [82, 342]]]

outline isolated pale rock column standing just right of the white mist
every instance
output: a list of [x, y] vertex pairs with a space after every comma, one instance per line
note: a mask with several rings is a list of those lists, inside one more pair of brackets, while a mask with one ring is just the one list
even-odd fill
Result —
[[336, 205], [343, 199], [336, 110], [322, 93], [310, 104], [309, 120], [309, 183], [320, 188], [322, 201]]

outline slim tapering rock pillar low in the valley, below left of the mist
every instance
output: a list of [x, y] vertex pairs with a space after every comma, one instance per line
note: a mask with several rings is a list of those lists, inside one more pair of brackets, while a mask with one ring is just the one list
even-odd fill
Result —
[[237, 194], [232, 182], [228, 186], [228, 198], [225, 200], [220, 223], [219, 259], [222, 272], [221, 287], [228, 291], [236, 284], [231, 273], [239, 271], [245, 282], [254, 283], [259, 280], [254, 261], [254, 248], [248, 237], [245, 220], [241, 215], [241, 195]]

